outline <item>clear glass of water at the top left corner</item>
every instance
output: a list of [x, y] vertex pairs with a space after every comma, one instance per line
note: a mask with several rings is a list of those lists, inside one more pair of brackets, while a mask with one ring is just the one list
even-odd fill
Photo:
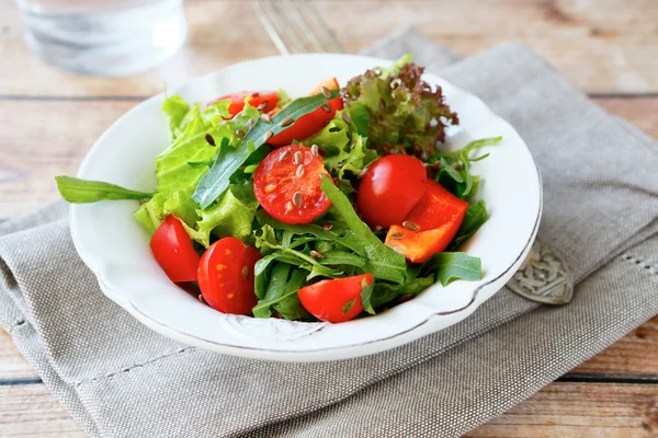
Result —
[[124, 76], [172, 56], [188, 27], [183, 0], [16, 0], [32, 50], [89, 74]]

